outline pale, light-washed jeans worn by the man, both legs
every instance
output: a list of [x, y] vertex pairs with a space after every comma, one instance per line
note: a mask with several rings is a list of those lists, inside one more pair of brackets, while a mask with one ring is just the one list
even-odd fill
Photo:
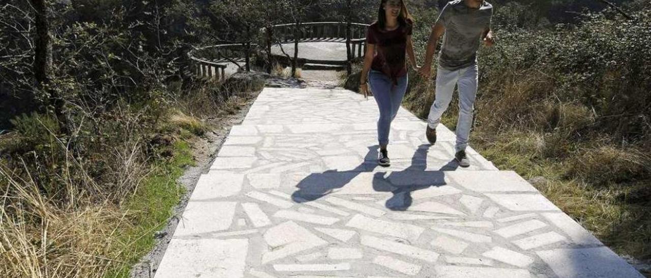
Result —
[[427, 118], [432, 129], [441, 122], [443, 112], [447, 110], [452, 100], [454, 85], [459, 92], [459, 119], [456, 123], [456, 151], [465, 150], [468, 146], [470, 127], [473, 123], [473, 105], [477, 95], [477, 64], [467, 68], [450, 71], [440, 65], [436, 71], [436, 99], [430, 107]]

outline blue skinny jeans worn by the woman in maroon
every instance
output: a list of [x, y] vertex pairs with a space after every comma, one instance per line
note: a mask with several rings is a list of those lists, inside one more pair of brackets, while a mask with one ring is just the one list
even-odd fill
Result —
[[407, 75], [398, 78], [398, 84], [393, 84], [391, 78], [387, 77], [381, 71], [371, 70], [368, 73], [368, 84], [370, 91], [375, 97], [380, 109], [380, 119], [378, 119], [378, 141], [381, 146], [389, 144], [389, 131], [391, 130], [391, 121], [396, 118], [402, 97], [407, 90]]

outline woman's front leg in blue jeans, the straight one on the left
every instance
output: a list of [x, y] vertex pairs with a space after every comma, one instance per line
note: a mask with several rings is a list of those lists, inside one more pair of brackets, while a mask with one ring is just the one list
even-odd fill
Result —
[[378, 71], [368, 73], [370, 90], [378, 103], [378, 142], [380, 149], [387, 149], [389, 144], [389, 125], [391, 124], [391, 79]]

